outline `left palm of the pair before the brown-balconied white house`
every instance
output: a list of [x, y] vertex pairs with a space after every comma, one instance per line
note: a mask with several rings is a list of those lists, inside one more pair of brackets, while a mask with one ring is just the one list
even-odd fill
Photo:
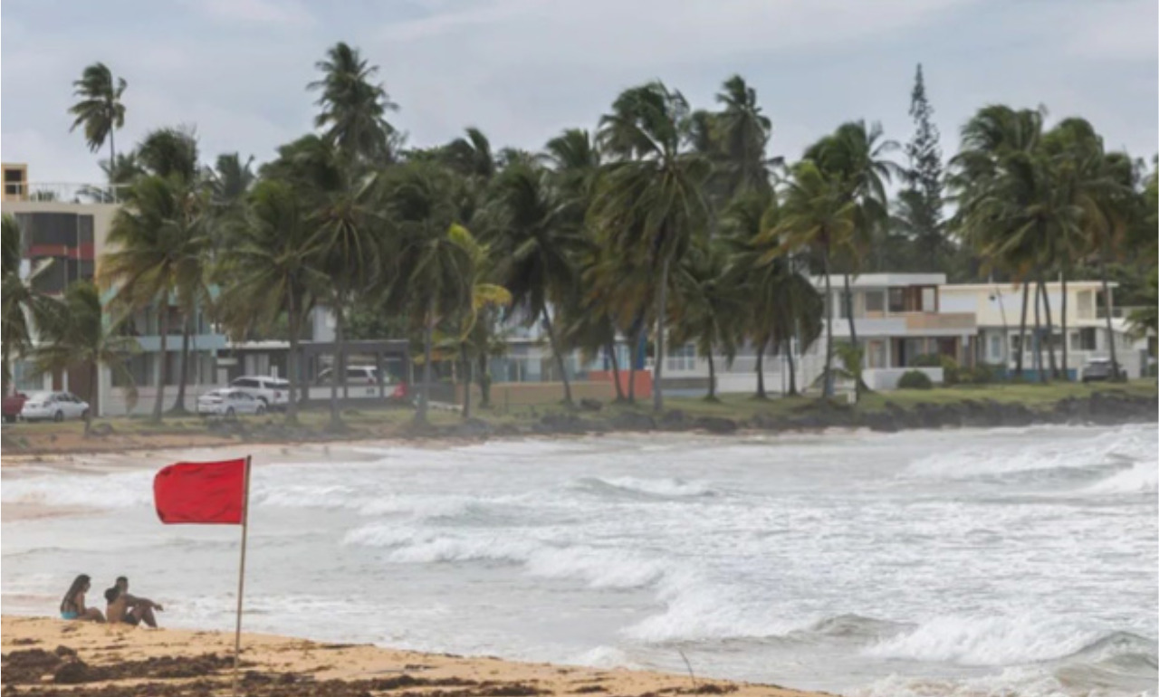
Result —
[[[758, 242], [768, 251], [763, 261], [809, 250], [821, 257], [825, 281], [825, 379], [822, 396], [833, 396], [833, 291], [830, 261], [834, 249], [845, 244], [857, 226], [857, 204], [848, 199], [840, 181], [826, 177], [812, 160], [802, 160], [792, 168], [780, 222]], [[775, 243], [775, 245], [774, 245]]]

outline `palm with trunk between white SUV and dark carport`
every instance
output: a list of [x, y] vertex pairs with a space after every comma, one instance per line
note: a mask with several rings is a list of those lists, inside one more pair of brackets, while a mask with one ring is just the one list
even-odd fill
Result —
[[321, 242], [314, 236], [302, 199], [286, 182], [265, 179], [248, 195], [245, 215], [234, 221], [231, 244], [214, 274], [223, 279], [220, 315], [235, 336], [286, 318], [290, 398], [286, 421], [298, 423], [301, 391], [299, 342], [318, 291], [327, 277], [316, 264]]

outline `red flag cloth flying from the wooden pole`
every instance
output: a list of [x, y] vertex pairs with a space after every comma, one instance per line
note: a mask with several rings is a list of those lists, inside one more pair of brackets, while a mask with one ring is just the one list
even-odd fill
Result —
[[246, 460], [170, 464], [153, 478], [153, 501], [167, 524], [241, 524]]

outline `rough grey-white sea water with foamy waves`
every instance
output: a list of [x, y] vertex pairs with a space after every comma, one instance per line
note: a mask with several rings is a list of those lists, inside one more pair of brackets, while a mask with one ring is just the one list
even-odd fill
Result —
[[[71, 513], [3, 523], [3, 612], [124, 573], [165, 624], [232, 629], [239, 529], [158, 522], [170, 457], [6, 468], [3, 504]], [[683, 653], [850, 696], [1156, 694], [1154, 425], [280, 460], [254, 465], [247, 630], [679, 672]]]

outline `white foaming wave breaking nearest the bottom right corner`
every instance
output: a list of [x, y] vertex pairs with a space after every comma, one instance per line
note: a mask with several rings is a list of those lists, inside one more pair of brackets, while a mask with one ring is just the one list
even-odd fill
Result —
[[874, 658], [1013, 666], [1074, 654], [1098, 641], [1098, 631], [1054, 617], [952, 615], [863, 650]]

